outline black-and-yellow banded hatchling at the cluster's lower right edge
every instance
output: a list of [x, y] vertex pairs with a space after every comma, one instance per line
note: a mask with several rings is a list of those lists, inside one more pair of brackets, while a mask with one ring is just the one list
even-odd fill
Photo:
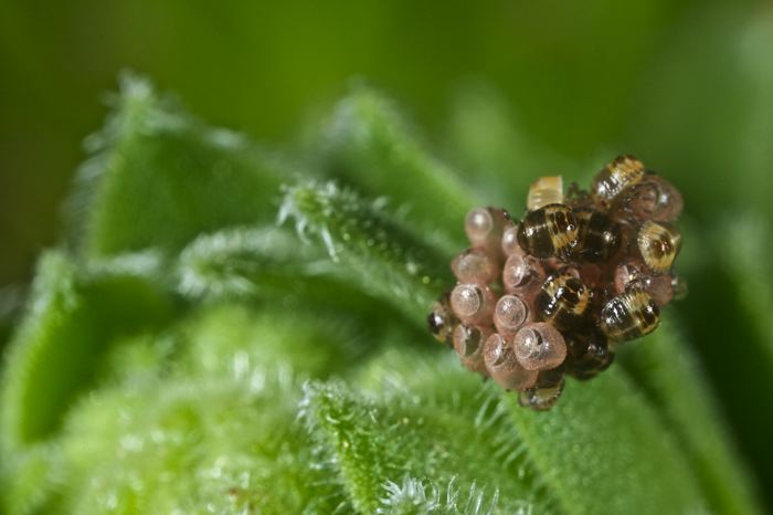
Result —
[[644, 290], [628, 290], [601, 309], [601, 330], [620, 343], [648, 335], [659, 323], [660, 309]]

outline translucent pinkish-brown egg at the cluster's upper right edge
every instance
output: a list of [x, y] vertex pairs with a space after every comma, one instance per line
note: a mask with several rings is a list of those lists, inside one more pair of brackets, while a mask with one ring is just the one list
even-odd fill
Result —
[[638, 183], [624, 189], [610, 208], [615, 220], [629, 223], [655, 220], [670, 222], [679, 218], [685, 201], [679, 190], [663, 177], [647, 174]]

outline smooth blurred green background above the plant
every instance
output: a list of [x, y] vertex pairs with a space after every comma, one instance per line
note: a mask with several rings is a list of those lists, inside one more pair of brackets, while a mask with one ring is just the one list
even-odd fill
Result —
[[530, 141], [570, 160], [640, 156], [685, 189], [698, 217], [766, 208], [771, 192], [770, 2], [0, 6], [0, 284], [25, 281], [55, 242], [81, 143], [126, 67], [202, 118], [269, 143], [296, 134], [357, 76], [442, 140], [474, 82], [497, 93]]

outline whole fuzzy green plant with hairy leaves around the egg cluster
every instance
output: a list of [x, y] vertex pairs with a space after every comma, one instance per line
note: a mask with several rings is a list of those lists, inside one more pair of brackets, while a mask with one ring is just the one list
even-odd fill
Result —
[[[718, 395], [733, 387], [711, 360], [721, 343], [705, 351], [697, 337], [697, 308], [669, 309], [548, 412], [520, 408], [426, 333], [463, 217], [502, 197], [487, 188], [520, 134], [485, 93], [466, 98], [462, 122], [494, 120], [495, 140], [455, 122], [457, 165], [363, 87], [288, 158], [123, 77], [88, 140], [65, 242], [41, 258], [8, 346], [2, 509], [762, 513], [765, 456], [748, 451], [764, 439]], [[464, 164], [487, 171], [467, 183]], [[523, 193], [508, 192], [513, 208]], [[726, 277], [713, 295], [748, 335], [731, 362], [766, 370], [760, 388], [773, 370], [773, 294], [754, 281], [765, 232], [729, 217], [696, 234], [685, 271]], [[727, 234], [733, 250], [719, 254]]]

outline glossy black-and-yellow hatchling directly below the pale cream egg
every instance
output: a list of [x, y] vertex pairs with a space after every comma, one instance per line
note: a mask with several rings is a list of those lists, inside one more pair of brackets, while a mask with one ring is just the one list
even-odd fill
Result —
[[518, 244], [539, 259], [566, 256], [576, 242], [576, 220], [572, 210], [561, 203], [529, 211], [518, 229]]

